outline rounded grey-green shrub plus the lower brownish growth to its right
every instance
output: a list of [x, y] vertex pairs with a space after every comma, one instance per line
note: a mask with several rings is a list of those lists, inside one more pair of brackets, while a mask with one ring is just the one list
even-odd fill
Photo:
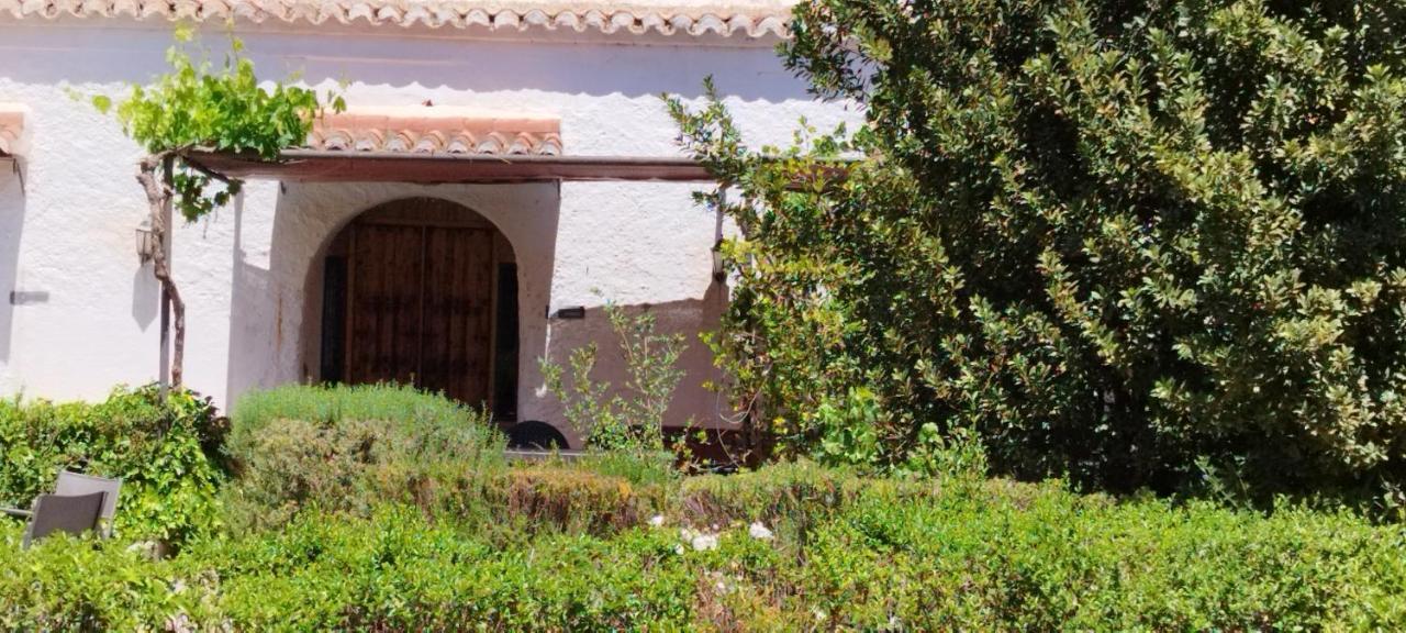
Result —
[[638, 523], [671, 480], [655, 456], [603, 453], [508, 468], [486, 412], [396, 385], [285, 385], [245, 395], [225, 452], [233, 533], [278, 529], [301, 511], [370, 516], [401, 504], [501, 529], [602, 530]]

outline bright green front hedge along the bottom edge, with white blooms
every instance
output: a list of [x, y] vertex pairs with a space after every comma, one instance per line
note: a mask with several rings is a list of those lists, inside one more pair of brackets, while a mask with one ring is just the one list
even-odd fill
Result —
[[[53, 539], [20, 551], [17, 529], [0, 528], [0, 629], [1406, 625], [1406, 532], [1350, 515], [1289, 509], [1267, 519], [1208, 505], [1115, 504], [1057, 484], [935, 485], [807, 466], [673, 485], [676, 501], [657, 528], [509, 530], [505, 508], [426, 520], [387, 506], [368, 518], [305, 512], [281, 530], [200, 543], [162, 561], [120, 542]], [[758, 520], [775, 533], [749, 526]]]

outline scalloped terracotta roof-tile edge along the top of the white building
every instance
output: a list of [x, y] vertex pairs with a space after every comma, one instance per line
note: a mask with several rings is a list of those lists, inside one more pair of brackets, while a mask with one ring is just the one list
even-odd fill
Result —
[[794, 0], [0, 0], [6, 18], [136, 18], [398, 25], [606, 35], [786, 35]]

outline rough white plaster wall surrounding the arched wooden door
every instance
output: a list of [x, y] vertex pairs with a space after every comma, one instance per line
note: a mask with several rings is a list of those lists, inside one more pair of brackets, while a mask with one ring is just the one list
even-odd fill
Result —
[[[127, 82], [150, 79], [162, 70], [169, 32], [82, 24], [0, 23], [0, 101], [31, 108], [24, 191], [18, 179], [0, 173], [0, 291], [48, 293], [45, 302], [0, 305], [6, 392], [97, 398], [114, 384], [156, 376], [157, 286], [134, 248], [146, 212], [134, 180], [141, 152], [114, 120], [72, 94], [118, 94]], [[696, 100], [707, 75], [758, 145], [787, 142], [803, 115], [821, 127], [855, 118], [841, 106], [814, 103], [769, 48], [382, 32], [394, 31], [242, 37], [263, 76], [299, 72], [319, 89], [346, 80], [352, 107], [430, 100], [560, 117], [571, 155], [676, 156], [676, 129], [658, 94]], [[716, 321], [723, 298], [710, 283], [714, 218], [693, 205], [693, 188], [250, 183], [238, 204], [181, 226], [174, 238], [188, 309], [187, 383], [226, 405], [250, 387], [307, 377], [316, 356], [304, 345], [315, 321], [305, 284], [325, 239], [377, 203], [434, 196], [482, 212], [517, 252], [522, 419], [560, 422], [540, 390], [537, 356], [564, 357], [588, 340], [613, 345], [599, 312], [547, 322], [546, 305], [596, 307], [603, 297], [654, 305], [662, 324], [690, 333], [690, 373], [671, 416], [710, 422], [716, 402], [700, 383], [711, 369], [693, 335]], [[603, 364], [612, 369], [609, 359]]]

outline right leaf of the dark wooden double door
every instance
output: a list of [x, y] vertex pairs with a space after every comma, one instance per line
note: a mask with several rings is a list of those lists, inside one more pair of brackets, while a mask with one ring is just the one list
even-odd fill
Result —
[[425, 387], [474, 407], [488, 402], [494, 234], [430, 226], [425, 234]]

